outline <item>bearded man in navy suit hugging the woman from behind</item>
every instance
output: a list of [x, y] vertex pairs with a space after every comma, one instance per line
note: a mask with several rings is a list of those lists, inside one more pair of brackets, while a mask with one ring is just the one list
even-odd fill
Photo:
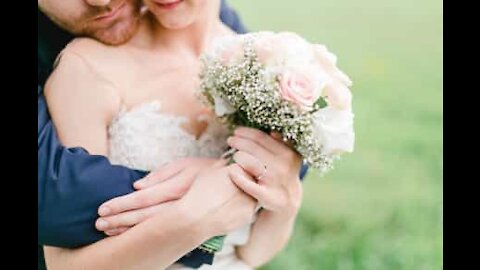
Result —
[[[139, 0], [39, 0], [38, 12], [38, 244], [39, 266], [43, 264], [41, 245], [75, 248], [94, 243], [105, 237], [93, 224], [97, 209], [105, 201], [116, 199], [120, 208], [131, 217], [141, 216], [145, 203], [162, 203], [158, 198], [183, 194], [172, 187], [158, 184], [155, 192], [134, 192], [133, 182], [148, 172], [112, 166], [105, 157], [91, 156], [81, 148], [67, 149], [57, 138], [50, 120], [42, 86], [52, 71], [56, 55], [74, 36], [89, 36], [110, 45], [126, 42], [134, 33], [140, 16]], [[125, 3], [125, 5], [123, 5]], [[96, 20], [110, 16], [106, 22]], [[222, 1], [220, 17], [239, 33], [245, 29], [236, 13]], [[61, 28], [59, 28], [61, 27]], [[66, 30], [66, 31], [65, 31]], [[180, 164], [182, 169], [198, 167], [195, 160]], [[304, 174], [305, 171], [303, 171]], [[185, 174], [190, 178], [192, 174]], [[162, 172], [152, 172], [149, 179], [161, 178]], [[161, 180], [161, 179], [160, 179]], [[187, 181], [185, 183], [191, 183]], [[186, 187], [187, 188], [187, 187]], [[131, 194], [124, 196], [126, 194]], [[120, 197], [123, 196], [123, 197]], [[128, 206], [130, 204], [130, 206]], [[137, 211], [137, 212], [136, 212]], [[125, 217], [125, 215], [123, 215]], [[137, 222], [141, 222], [139, 219]], [[97, 223], [97, 227], [100, 227]], [[121, 223], [119, 224], [121, 227]], [[99, 228], [101, 229], [101, 228]], [[180, 262], [191, 267], [211, 262], [211, 256], [195, 250]]]

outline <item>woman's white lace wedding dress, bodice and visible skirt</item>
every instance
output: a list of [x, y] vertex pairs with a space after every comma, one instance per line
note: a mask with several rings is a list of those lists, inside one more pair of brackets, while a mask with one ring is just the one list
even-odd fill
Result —
[[[127, 111], [122, 110], [109, 127], [109, 159], [132, 169], [151, 171], [170, 161], [185, 157], [220, 157], [226, 150], [227, 130], [215, 119], [197, 139], [181, 128], [185, 117], [160, 111], [161, 103], [152, 101]], [[253, 220], [252, 220], [253, 221]], [[247, 242], [250, 226], [228, 234], [223, 249], [212, 265], [201, 270], [251, 270], [235, 256], [235, 246]], [[167, 268], [192, 269], [181, 264]]]

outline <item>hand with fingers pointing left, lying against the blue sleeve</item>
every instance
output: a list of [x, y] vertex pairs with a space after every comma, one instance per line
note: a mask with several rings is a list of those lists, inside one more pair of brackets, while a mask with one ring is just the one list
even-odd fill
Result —
[[169, 163], [135, 182], [137, 191], [102, 204], [95, 227], [110, 236], [123, 233], [158, 212], [158, 205], [181, 198], [200, 172], [223, 164], [223, 160], [207, 158]]

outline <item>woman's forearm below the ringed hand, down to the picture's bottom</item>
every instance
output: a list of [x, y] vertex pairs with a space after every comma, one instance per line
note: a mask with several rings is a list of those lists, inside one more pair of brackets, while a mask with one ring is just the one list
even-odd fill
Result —
[[262, 210], [255, 221], [248, 243], [237, 247], [237, 255], [251, 267], [271, 260], [288, 243], [296, 213], [285, 216]]

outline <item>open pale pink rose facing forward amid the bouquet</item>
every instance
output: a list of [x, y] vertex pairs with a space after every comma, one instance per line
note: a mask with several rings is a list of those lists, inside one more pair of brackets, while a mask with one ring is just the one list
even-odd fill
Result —
[[287, 69], [280, 75], [280, 95], [305, 110], [312, 109], [324, 86], [306, 69]]

